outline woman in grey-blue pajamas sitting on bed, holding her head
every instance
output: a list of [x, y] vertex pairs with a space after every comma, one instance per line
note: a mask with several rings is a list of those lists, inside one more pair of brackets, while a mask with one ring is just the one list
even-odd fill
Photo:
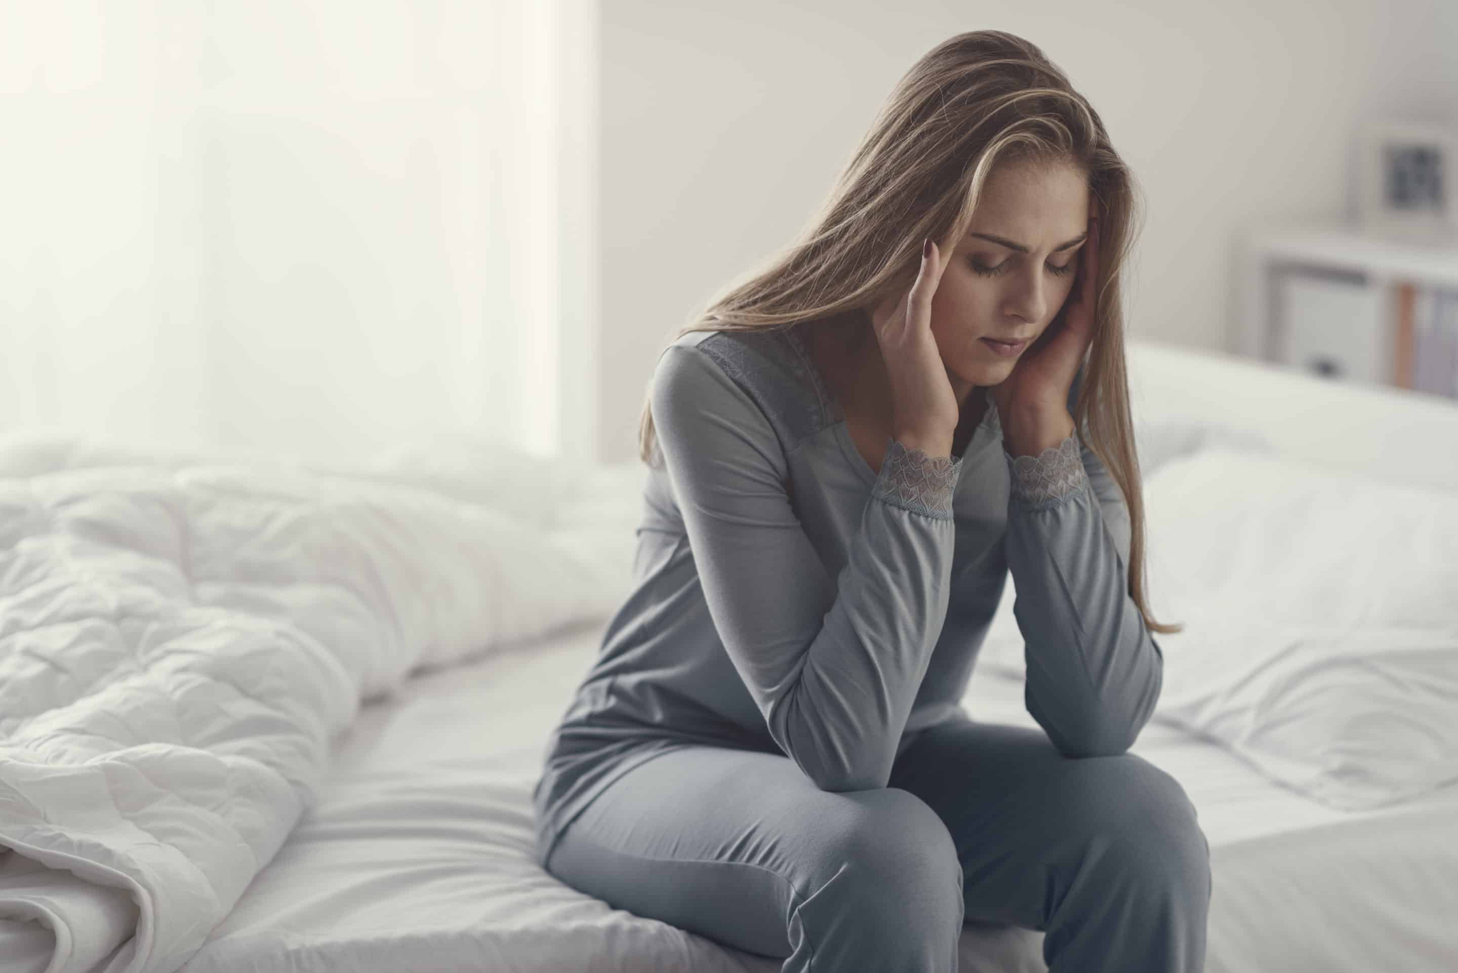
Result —
[[[1142, 591], [1131, 200], [1037, 47], [962, 34], [808, 238], [663, 350], [544, 868], [786, 972], [955, 970], [964, 919], [1045, 931], [1056, 972], [1203, 967], [1209, 845], [1127, 753], [1178, 630]], [[958, 706], [1009, 572], [1042, 732]]]

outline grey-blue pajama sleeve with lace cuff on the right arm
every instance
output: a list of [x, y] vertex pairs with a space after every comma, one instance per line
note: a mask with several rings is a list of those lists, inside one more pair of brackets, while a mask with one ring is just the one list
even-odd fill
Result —
[[1163, 654], [1127, 591], [1128, 508], [1077, 429], [1037, 457], [1003, 455], [1028, 713], [1064, 756], [1124, 753], [1163, 684]]

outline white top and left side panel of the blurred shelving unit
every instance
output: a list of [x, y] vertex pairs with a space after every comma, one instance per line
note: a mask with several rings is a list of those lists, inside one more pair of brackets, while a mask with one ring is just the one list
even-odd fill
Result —
[[1283, 274], [1373, 289], [1371, 296], [1382, 308], [1391, 306], [1392, 289], [1400, 283], [1458, 290], [1458, 242], [1414, 244], [1349, 225], [1257, 228], [1245, 236], [1242, 261], [1238, 349], [1267, 362], [1280, 360]]

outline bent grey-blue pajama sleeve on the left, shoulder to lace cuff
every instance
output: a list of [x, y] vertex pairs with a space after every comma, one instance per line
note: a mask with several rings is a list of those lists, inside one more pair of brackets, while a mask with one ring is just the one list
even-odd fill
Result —
[[824, 791], [884, 788], [946, 619], [961, 458], [889, 439], [831, 578], [768, 417], [713, 359], [665, 349], [650, 407], [710, 617], [770, 735]]

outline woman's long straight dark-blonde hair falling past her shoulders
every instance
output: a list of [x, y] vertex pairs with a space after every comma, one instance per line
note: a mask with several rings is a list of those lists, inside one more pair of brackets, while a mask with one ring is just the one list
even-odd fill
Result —
[[[961, 239], [994, 166], [1069, 165], [1088, 177], [1099, 226], [1094, 334], [1073, 408], [1080, 439], [1128, 506], [1128, 595], [1146, 607], [1145, 505], [1128, 408], [1121, 274], [1131, 251], [1137, 188], [1098, 112], [1042, 51], [1005, 31], [971, 31], [936, 45], [897, 83], [850, 165], [800, 238], [745, 283], [714, 299], [691, 331], [781, 330], [851, 315], [904, 292], [921, 239]], [[656, 438], [647, 401], [639, 458]]]

